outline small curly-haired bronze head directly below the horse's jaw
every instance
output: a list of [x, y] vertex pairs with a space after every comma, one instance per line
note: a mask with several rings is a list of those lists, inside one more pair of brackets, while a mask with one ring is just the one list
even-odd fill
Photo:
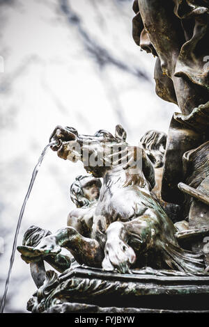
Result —
[[70, 198], [77, 207], [86, 207], [98, 200], [101, 186], [99, 178], [79, 175], [70, 186]]

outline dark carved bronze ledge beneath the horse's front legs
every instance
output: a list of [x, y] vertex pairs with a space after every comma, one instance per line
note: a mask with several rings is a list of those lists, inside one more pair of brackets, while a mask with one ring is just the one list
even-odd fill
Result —
[[108, 273], [77, 266], [58, 276], [47, 271], [28, 302], [31, 312], [209, 312], [209, 276], [179, 271]]

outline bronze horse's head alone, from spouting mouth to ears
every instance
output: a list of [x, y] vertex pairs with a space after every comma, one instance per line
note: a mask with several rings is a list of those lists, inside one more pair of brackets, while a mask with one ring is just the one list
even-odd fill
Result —
[[73, 127], [57, 126], [50, 141], [61, 142], [60, 146], [52, 146], [59, 157], [77, 162], [81, 160], [88, 173], [95, 177], [102, 177], [104, 172], [116, 163], [116, 159], [110, 159], [114, 150], [120, 150], [120, 146], [127, 147], [125, 143], [126, 132], [121, 125], [116, 126], [116, 134], [113, 136], [109, 131], [100, 129], [94, 135], [78, 134]]

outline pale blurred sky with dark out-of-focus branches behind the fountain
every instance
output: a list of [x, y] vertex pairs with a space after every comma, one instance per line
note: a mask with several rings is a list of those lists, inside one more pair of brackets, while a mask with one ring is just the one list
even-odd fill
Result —
[[[132, 40], [132, 0], [0, 0], [0, 298], [17, 219], [31, 173], [56, 125], [114, 133], [136, 144], [148, 129], [166, 131], [178, 107], [155, 95], [155, 58]], [[70, 184], [86, 175], [49, 150], [26, 205], [26, 228], [66, 225]], [[16, 253], [5, 312], [26, 312], [35, 292]]]

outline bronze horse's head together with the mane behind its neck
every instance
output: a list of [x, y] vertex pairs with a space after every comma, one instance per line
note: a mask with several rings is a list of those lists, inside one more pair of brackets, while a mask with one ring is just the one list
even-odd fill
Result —
[[86, 171], [94, 177], [104, 177], [108, 170], [115, 168], [133, 168], [139, 163], [135, 175], [143, 170], [141, 175], [144, 175], [151, 188], [155, 184], [150, 160], [142, 148], [126, 143], [126, 131], [121, 125], [116, 125], [114, 136], [103, 129], [96, 131], [94, 135], [84, 135], [73, 127], [57, 126], [49, 139], [54, 140], [60, 142], [60, 145], [52, 146], [59, 157], [73, 162], [81, 160]]

